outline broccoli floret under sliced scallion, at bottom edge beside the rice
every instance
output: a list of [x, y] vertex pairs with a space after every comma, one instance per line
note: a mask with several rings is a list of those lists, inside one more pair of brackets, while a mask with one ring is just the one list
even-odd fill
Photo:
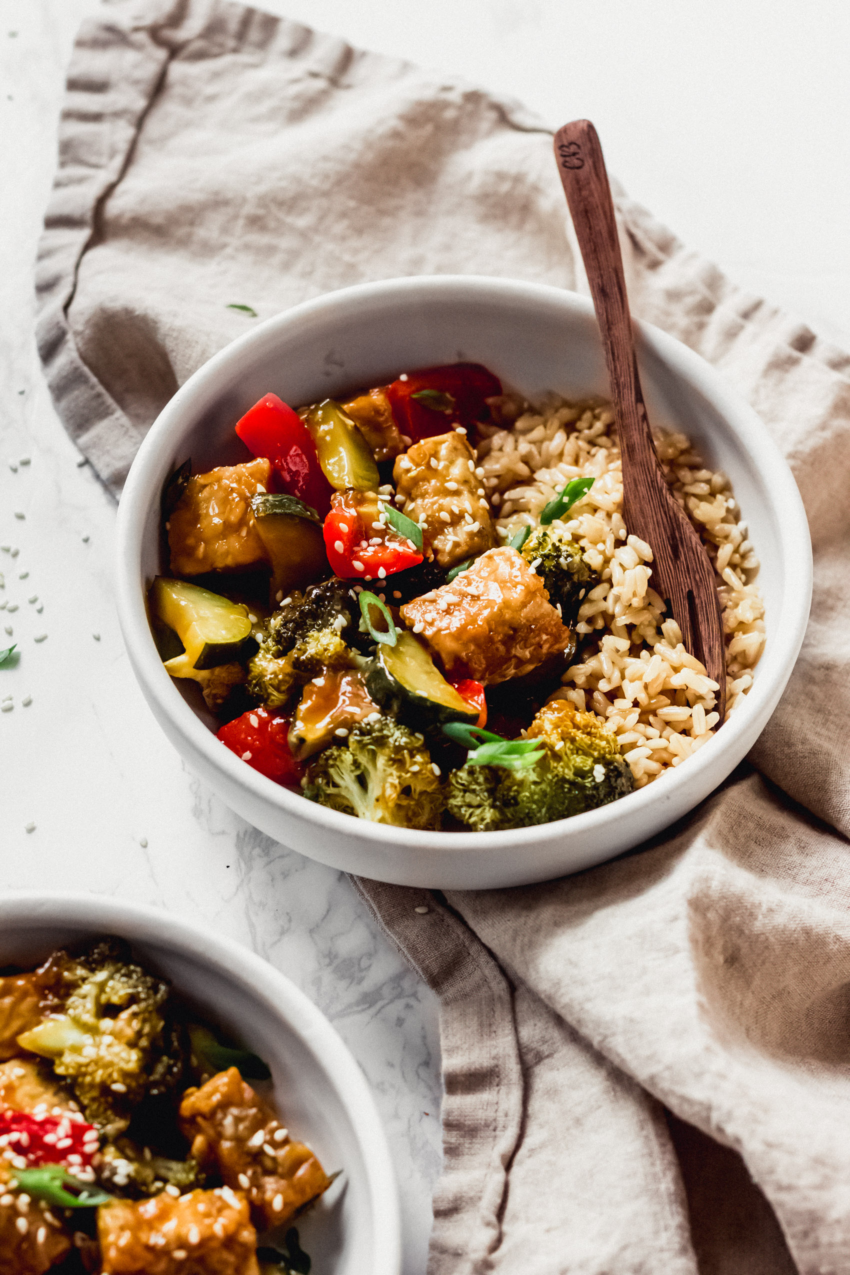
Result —
[[[545, 704], [528, 731], [544, 745], [526, 770], [461, 766], [449, 778], [451, 815], [480, 833], [529, 827], [595, 810], [632, 790], [617, 737], [594, 713], [568, 700]], [[484, 774], [478, 774], [484, 771]]]

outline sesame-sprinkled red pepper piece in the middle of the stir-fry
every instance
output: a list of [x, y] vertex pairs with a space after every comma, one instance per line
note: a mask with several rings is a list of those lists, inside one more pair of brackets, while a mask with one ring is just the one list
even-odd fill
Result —
[[423, 555], [412, 541], [389, 523], [378, 524], [376, 496], [361, 491], [334, 492], [325, 519], [325, 552], [340, 579], [384, 580], [422, 562]]

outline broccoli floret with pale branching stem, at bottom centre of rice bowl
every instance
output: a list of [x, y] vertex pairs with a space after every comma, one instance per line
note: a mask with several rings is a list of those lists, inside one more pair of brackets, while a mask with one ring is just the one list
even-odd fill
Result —
[[373, 824], [440, 826], [442, 785], [421, 734], [391, 718], [361, 722], [307, 770], [305, 797]]

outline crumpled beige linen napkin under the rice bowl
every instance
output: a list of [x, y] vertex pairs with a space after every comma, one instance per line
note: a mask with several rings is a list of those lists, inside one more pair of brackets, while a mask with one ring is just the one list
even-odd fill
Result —
[[[252, 321], [229, 303], [437, 272], [585, 289], [549, 134], [516, 103], [223, 0], [107, 14], [69, 73], [38, 340], [116, 495], [168, 397]], [[641, 853], [447, 899], [358, 882], [442, 1006], [431, 1275], [840, 1275], [850, 357], [617, 204], [635, 311], [794, 468], [812, 623], [749, 762]]]

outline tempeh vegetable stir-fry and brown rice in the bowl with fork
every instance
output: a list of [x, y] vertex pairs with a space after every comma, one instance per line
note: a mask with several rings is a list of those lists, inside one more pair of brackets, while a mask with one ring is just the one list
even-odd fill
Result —
[[[246, 764], [375, 822], [512, 829], [652, 783], [711, 738], [717, 686], [623, 523], [613, 419], [469, 363], [265, 395], [236, 425], [251, 456], [166, 484], [166, 668]], [[684, 435], [658, 450], [715, 564], [734, 711], [758, 562], [725, 476]]]

